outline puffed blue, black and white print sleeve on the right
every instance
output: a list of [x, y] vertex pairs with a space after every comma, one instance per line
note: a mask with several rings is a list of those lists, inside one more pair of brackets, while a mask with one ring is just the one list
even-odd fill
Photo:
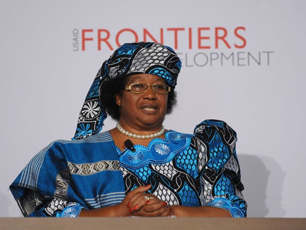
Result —
[[194, 135], [205, 205], [226, 209], [233, 217], [246, 217], [236, 132], [224, 121], [205, 120], [195, 127]]

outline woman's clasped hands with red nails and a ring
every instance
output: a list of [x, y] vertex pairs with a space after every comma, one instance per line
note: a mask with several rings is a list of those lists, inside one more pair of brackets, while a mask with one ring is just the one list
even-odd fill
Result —
[[119, 216], [166, 217], [170, 216], [171, 208], [166, 201], [155, 195], [145, 193], [151, 185], [139, 186], [129, 192], [118, 206]]

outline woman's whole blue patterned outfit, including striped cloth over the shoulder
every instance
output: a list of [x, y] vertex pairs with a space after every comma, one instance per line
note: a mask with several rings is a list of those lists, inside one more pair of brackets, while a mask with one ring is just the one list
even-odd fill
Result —
[[56, 141], [40, 151], [10, 189], [24, 216], [79, 215], [122, 201], [151, 184], [169, 205], [214, 206], [246, 216], [236, 156], [236, 133], [223, 121], [206, 120], [194, 135], [168, 131], [136, 151], [120, 151], [109, 132]]

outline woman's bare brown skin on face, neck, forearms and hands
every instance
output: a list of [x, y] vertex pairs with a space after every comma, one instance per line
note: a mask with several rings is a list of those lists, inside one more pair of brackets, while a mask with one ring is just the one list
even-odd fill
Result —
[[[131, 75], [127, 81], [127, 86], [132, 83], [145, 83], [152, 85], [155, 83], [165, 83], [162, 78], [152, 74]], [[123, 129], [140, 135], [147, 135], [161, 130], [167, 108], [167, 94], [157, 94], [151, 87], [146, 92], [135, 94], [123, 91], [121, 95], [116, 95], [116, 103], [120, 108], [119, 122]], [[116, 128], [109, 131], [115, 145], [121, 151], [126, 147], [124, 141], [126, 136]], [[164, 136], [161, 136], [162, 138]], [[159, 137], [159, 138], [161, 138]], [[151, 139], [133, 139], [134, 144], [147, 146]], [[231, 217], [230, 212], [225, 209], [202, 206], [168, 206], [167, 202], [150, 194], [153, 199], [144, 198], [150, 189], [150, 185], [139, 186], [129, 192], [118, 205], [94, 209], [82, 210], [80, 217], [108, 216], [108, 217]]]

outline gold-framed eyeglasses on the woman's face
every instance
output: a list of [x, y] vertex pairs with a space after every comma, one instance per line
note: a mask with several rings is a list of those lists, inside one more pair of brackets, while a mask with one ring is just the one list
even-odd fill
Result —
[[143, 93], [148, 89], [149, 86], [152, 87], [152, 90], [158, 94], [167, 94], [171, 89], [166, 84], [146, 85], [141, 83], [133, 83], [130, 86], [125, 86], [125, 90], [131, 91], [131, 93]]

